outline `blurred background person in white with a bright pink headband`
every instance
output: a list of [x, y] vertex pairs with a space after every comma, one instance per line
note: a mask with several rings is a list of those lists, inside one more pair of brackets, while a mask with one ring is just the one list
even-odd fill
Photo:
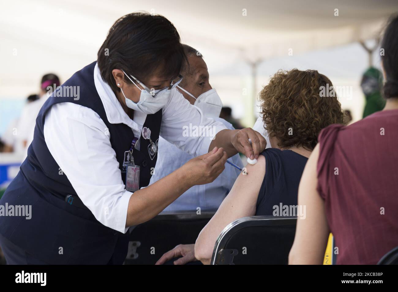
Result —
[[[20, 119], [16, 126], [17, 143], [20, 144], [23, 149], [22, 161], [25, 160], [27, 156], [27, 149], [30, 143], [32, 143], [33, 141], [33, 133], [35, 130], [37, 115], [39, 114], [39, 111], [43, 104], [49, 98], [49, 95], [47, 95], [47, 87], [53, 88], [54, 86], [57, 87], [60, 84], [61, 83], [58, 76], [54, 73], [48, 73], [43, 75], [43, 77], [41, 77], [39, 99], [29, 102], [22, 110]], [[20, 145], [18, 145], [18, 147], [20, 147]]]

